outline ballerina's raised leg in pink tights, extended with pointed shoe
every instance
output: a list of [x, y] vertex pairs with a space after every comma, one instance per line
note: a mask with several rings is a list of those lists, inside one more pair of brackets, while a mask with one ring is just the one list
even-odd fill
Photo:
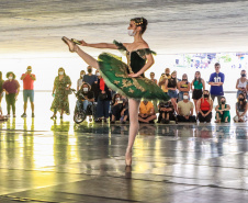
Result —
[[69, 47], [70, 52], [75, 52], [78, 54], [78, 56], [80, 56], [89, 66], [95, 68], [99, 70], [99, 64], [98, 60], [95, 60], [92, 56], [90, 56], [89, 54], [84, 53], [81, 48], [79, 48], [78, 45], [76, 45], [74, 42], [71, 42], [69, 38], [67, 37], [63, 37], [61, 38]]

